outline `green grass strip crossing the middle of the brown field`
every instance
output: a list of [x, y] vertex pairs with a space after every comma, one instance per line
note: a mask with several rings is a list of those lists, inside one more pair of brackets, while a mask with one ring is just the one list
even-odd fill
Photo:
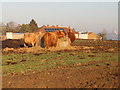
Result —
[[[93, 57], [92, 57], [93, 56]], [[26, 60], [25, 62], [21, 62]], [[48, 52], [41, 55], [26, 54], [8, 54], [2, 56], [3, 75], [12, 72], [23, 72], [29, 70], [44, 70], [62, 65], [71, 65], [76, 63], [87, 63], [89, 61], [112, 60], [118, 61], [117, 53], [83, 53], [73, 52]], [[9, 64], [7, 62], [16, 62]]]

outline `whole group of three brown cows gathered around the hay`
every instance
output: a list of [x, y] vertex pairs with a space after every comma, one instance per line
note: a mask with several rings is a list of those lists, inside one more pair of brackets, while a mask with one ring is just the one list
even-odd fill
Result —
[[[24, 47], [32, 45], [33, 46], [43, 46], [44, 48], [56, 47], [58, 39], [68, 37], [70, 42], [74, 42], [76, 37], [74, 33], [69, 30], [68, 33], [62, 32], [61, 30], [56, 30], [55, 32], [34, 32], [24, 34]], [[41, 45], [43, 44], [43, 45]]]

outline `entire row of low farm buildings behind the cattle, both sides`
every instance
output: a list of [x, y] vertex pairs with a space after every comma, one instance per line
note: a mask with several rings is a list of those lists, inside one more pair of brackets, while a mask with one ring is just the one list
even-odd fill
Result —
[[[45, 32], [54, 32], [56, 30], [62, 30], [63, 32], [68, 33], [69, 30], [72, 30], [72, 32], [75, 34], [76, 39], [96, 39], [96, 40], [100, 40], [102, 39], [102, 37], [100, 37], [99, 35], [93, 33], [93, 32], [76, 32], [75, 30], [71, 29], [70, 27], [59, 27], [58, 25], [54, 26], [50, 26], [50, 25], [43, 25], [39, 30], [36, 30], [34, 32], [38, 32], [40, 31], [41, 33], [45, 33]], [[24, 33], [12, 33], [12, 32], [7, 32], [6, 35], [1, 35], [0, 38], [2, 40], [5, 39], [21, 39], [23, 38]]]

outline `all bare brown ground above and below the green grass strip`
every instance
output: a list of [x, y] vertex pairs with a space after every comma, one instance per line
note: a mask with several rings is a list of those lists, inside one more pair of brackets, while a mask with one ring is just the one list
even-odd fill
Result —
[[[10, 44], [11, 42], [11, 44]], [[82, 42], [74, 42], [69, 49], [49, 49], [38, 47], [23, 48], [22, 41], [8, 40], [3, 42], [3, 55], [10, 53], [35, 53], [54, 51], [72, 52], [83, 51], [86, 53], [118, 51], [118, 41], [93, 41], [86, 40]], [[8, 45], [9, 44], [9, 45]], [[7, 47], [7, 48], [6, 48]], [[16, 49], [15, 49], [16, 48]], [[91, 56], [92, 57], [92, 56]], [[12, 73], [3, 76], [3, 88], [118, 88], [119, 65], [118, 62], [105, 62], [105, 60], [94, 61], [84, 64], [63, 65], [44, 71], [31, 71], [26, 73]], [[85, 66], [84, 68], [78, 68]], [[112, 69], [111, 69], [112, 68]]]

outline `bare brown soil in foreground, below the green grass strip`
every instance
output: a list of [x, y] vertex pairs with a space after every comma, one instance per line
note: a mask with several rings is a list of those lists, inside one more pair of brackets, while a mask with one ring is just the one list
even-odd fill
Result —
[[[46, 71], [4, 76], [3, 88], [117, 88], [119, 86], [116, 62], [74, 69], [78, 66], [62, 66]], [[116, 70], [110, 70], [109, 67], [115, 67]]]

